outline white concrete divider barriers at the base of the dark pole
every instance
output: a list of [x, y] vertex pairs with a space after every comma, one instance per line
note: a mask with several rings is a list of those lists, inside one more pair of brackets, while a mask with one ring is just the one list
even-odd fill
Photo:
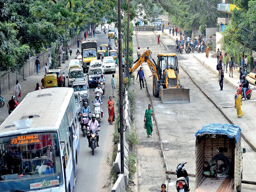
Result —
[[[124, 107], [124, 121], [126, 126], [126, 131], [129, 132], [131, 131], [131, 119], [129, 116], [129, 100], [128, 100], [128, 92], [125, 91], [125, 107]], [[124, 132], [124, 161], [127, 159], [128, 154], [129, 154], [129, 144], [125, 140], [125, 132]], [[120, 143], [118, 143], [118, 150], [116, 154], [116, 159], [115, 159], [115, 172], [116, 175], [118, 175], [118, 179], [115, 182], [115, 185], [111, 189], [111, 192], [125, 192], [125, 188], [128, 185], [128, 180], [129, 180], [129, 170], [128, 166], [125, 163], [124, 164], [124, 174], [120, 174], [121, 172], [121, 154], [120, 154]]]

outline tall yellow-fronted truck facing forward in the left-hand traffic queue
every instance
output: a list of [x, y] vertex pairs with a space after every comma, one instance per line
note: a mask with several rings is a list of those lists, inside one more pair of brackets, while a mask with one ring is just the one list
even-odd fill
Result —
[[97, 60], [97, 40], [86, 40], [81, 43], [83, 72], [88, 72], [90, 62]]

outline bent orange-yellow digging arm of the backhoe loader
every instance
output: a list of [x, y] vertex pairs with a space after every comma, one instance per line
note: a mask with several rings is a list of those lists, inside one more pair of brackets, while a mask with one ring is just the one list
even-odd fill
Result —
[[[156, 62], [154, 61], [154, 63], [152, 63], [152, 61], [150, 61], [149, 56], [150, 56], [151, 52], [150, 50], [143, 52], [143, 54], [140, 56], [140, 58], [138, 58], [138, 60], [134, 61], [134, 63], [136, 63], [134, 65], [134, 67], [129, 68], [130, 74], [132, 74], [136, 68], [138, 68], [144, 61], [146, 61], [148, 63], [148, 67], [150, 68], [152, 74], [157, 74], [157, 69], [156, 69]], [[133, 64], [134, 64], [133, 63]]]

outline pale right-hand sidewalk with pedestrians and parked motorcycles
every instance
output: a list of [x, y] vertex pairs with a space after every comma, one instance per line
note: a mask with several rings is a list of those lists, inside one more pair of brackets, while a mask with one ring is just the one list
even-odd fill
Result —
[[[163, 35], [162, 31], [157, 31], [156, 34], [160, 34]], [[175, 40], [178, 38], [178, 40], [180, 39], [180, 36], [173, 36], [172, 34], [169, 34], [169, 29], [164, 29], [164, 35], [168, 35], [170, 36], [170, 38], [172, 38], [173, 40], [173, 45], [175, 44]], [[162, 42], [163, 43], [163, 42]], [[186, 52], [184, 51], [183, 54], [186, 54]], [[203, 65], [205, 65], [205, 67], [209, 68], [212, 70], [212, 72], [214, 72], [217, 76], [218, 76], [218, 70], [216, 70], [216, 65], [218, 63], [218, 60], [216, 58], [216, 56], [214, 54], [211, 53], [211, 51], [209, 52], [209, 58], [205, 57], [205, 52], [204, 53], [198, 53], [198, 52], [191, 52], [189, 54], [193, 54], [193, 57], [195, 57], [200, 63], [202, 63]], [[233, 70], [233, 78], [229, 77], [229, 67], [227, 70], [227, 73], [225, 72], [224, 74], [224, 79], [226, 79], [228, 81], [228, 83], [230, 83], [232, 86], [236, 87], [239, 85], [239, 72], [237, 71], [237, 68]], [[254, 90], [256, 89], [255, 85], [250, 84], [251, 88]]]

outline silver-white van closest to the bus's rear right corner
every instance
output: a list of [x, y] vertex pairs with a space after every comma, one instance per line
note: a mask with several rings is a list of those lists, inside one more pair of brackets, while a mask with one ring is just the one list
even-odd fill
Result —
[[74, 92], [78, 92], [83, 99], [83, 101], [87, 101], [89, 103], [90, 98], [90, 89], [86, 80], [83, 81], [74, 81], [72, 84], [72, 88]]

